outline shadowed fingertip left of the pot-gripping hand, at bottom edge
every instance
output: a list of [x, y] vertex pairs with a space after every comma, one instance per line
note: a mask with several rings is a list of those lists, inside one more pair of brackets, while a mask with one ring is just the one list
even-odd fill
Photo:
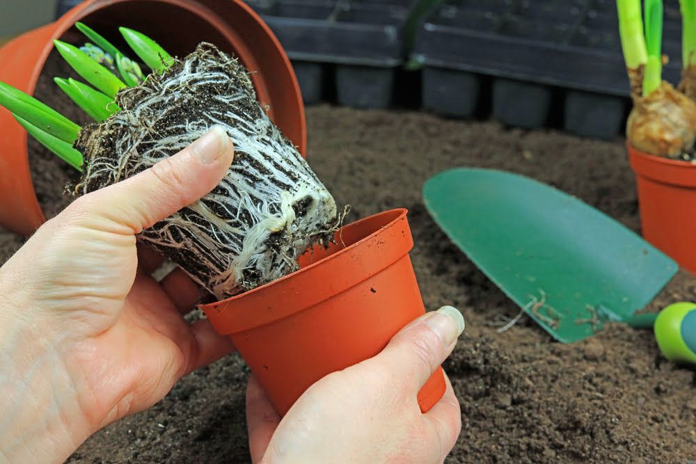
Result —
[[255, 376], [246, 385], [246, 424], [249, 434], [251, 462], [258, 463], [280, 423], [280, 415], [263, 391]]

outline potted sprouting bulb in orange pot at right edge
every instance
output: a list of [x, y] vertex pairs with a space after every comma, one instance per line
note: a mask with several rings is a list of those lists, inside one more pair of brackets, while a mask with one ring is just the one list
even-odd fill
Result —
[[626, 147], [636, 175], [643, 236], [690, 271], [696, 271], [696, 0], [681, 0], [683, 77], [677, 88], [661, 77], [663, 4], [617, 0], [624, 59], [633, 109], [626, 122]]

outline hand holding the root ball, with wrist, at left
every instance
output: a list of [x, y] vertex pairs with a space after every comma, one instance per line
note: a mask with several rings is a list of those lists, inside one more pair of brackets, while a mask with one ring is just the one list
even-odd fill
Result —
[[207, 320], [182, 317], [201, 295], [183, 271], [158, 283], [161, 259], [136, 249], [136, 234], [214, 189], [232, 157], [213, 129], [77, 199], [0, 269], [0, 462], [63, 461], [232, 351]]

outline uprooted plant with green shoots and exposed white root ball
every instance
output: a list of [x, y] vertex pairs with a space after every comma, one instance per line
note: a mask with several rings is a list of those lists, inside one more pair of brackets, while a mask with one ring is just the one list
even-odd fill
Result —
[[80, 171], [77, 195], [136, 175], [219, 126], [235, 145], [226, 177], [202, 200], [143, 231], [142, 241], [221, 300], [295, 271], [299, 255], [333, 237], [340, 221], [333, 197], [271, 122], [237, 59], [204, 42], [177, 60], [145, 35], [121, 28], [152, 69], [145, 79], [99, 33], [77, 27], [95, 53], [55, 45], [90, 85], [61, 78], [56, 84], [95, 124], [79, 127], [0, 83], [0, 105]]

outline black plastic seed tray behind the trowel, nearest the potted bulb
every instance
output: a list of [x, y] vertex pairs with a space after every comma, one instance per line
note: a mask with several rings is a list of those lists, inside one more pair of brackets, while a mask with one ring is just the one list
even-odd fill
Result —
[[[665, 2], [665, 79], [681, 69], [680, 15]], [[475, 114], [482, 79], [493, 78], [493, 115], [518, 127], [553, 124], [611, 138], [625, 118], [628, 77], [615, 0], [445, 0], [418, 32], [412, 58], [424, 66], [423, 104]]]

